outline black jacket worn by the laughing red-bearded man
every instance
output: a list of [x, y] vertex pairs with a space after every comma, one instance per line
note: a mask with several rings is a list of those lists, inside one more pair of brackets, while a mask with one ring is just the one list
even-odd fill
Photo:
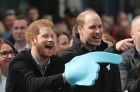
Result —
[[61, 60], [53, 56], [42, 76], [31, 51], [23, 51], [10, 63], [6, 92], [61, 92], [63, 70]]

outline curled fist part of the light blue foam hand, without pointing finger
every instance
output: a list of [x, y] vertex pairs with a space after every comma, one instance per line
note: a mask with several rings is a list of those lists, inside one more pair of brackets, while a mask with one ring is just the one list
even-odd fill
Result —
[[98, 78], [100, 67], [97, 63], [87, 61], [75, 61], [72, 59], [65, 64], [64, 76], [71, 85], [91, 86]]

